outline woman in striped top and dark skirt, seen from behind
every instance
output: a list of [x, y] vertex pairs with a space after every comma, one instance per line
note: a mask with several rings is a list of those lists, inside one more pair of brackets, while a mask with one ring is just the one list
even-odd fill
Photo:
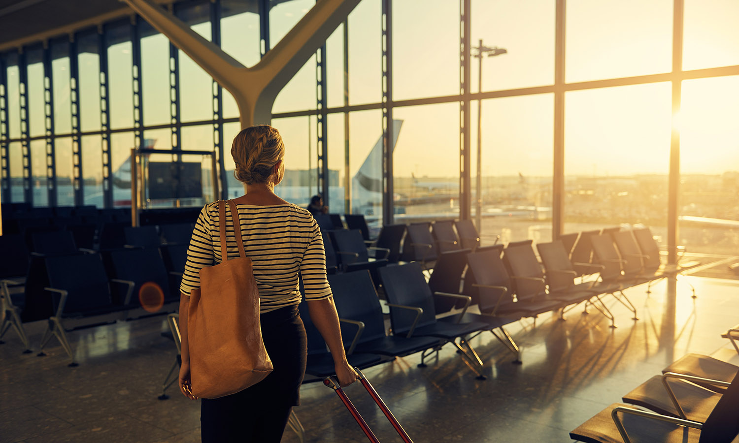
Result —
[[[285, 145], [271, 126], [251, 126], [239, 132], [231, 146], [234, 175], [246, 193], [237, 199], [246, 255], [251, 257], [259, 288], [262, 338], [274, 370], [265, 380], [239, 393], [202, 399], [202, 442], [279, 442], [293, 406], [299, 405], [299, 388], [305, 373], [307, 342], [298, 313], [302, 276], [310, 317], [333, 355], [342, 386], [357, 378], [347, 363], [341, 342], [336, 307], [326, 280], [321, 230], [310, 213], [280, 199], [274, 187], [285, 174]], [[226, 205], [226, 219], [234, 214]], [[226, 228], [228, 258], [239, 256], [233, 225]], [[197, 219], [180, 291], [180, 312], [188, 312], [189, 294], [200, 287], [198, 272], [220, 261], [217, 203], [205, 205]], [[183, 315], [184, 318], [184, 315]], [[182, 366], [180, 390], [190, 399], [190, 359], [187, 322], [180, 321]]]

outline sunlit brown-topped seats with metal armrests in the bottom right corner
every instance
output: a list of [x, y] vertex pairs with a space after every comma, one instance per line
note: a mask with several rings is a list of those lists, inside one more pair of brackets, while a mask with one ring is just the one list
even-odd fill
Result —
[[[729, 329], [729, 336], [732, 330], [738, 329]], [[739, 366], [726, 361], [687, 354], [621, 397], [623, 403], [613, 403], [576, 427], [570, 436], [588, 443], [736, 441], [738, 372]]]

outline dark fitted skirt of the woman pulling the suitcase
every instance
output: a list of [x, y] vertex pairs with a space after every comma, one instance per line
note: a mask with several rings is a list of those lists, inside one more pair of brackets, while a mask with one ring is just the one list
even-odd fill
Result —
[[279, 442], [291, 408], [300, 404], [307, 339], [298, 306], [262, 314], [260, 323], [274, 370], [244, 391], [202, 399], [202, 442]]

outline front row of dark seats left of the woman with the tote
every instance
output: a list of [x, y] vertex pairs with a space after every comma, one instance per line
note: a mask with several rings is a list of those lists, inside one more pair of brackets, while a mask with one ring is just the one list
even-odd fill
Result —
[[1, 259], [0, 331], [13, 326], [27, 351], [28, 321], [48, 319], [41, 351], [55, 335], [74, 364], [66, 331], [176, 309], [187, 244], [94, 251], [78, 250], [66, 231], [35, 233], [33, 239], [40, 252], [28, 255], [18, 234], [0, 237], [13, 250]]

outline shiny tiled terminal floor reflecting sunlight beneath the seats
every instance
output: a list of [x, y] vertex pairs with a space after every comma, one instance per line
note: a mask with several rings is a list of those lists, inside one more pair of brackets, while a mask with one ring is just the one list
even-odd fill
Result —
[[[690, 297], [688, 284], [698, 298]], [[489, 333], [472, 340], [488, 380], [475, 380], [452, 346], [418, 368], [418, 356], [365, 374], [415, 442], [570, 442], [568, 432], [688, 352], [712, 354], [739, 323], [739, 281], [680, 277], [627, 291], [638, 321], [613, 299], [617, 329], [598, 312], [573, 309], [566, 321], [545, 315], [508, 328], [522, 365]], [[46, 325], [30, 323], [37, 344]], [[171, 388], [158, 400], [174, 360], [160, 337], [163, 317], [69, 334], [80, 365], [67, 367], [56, 339], [47, 357], [21, 354], [15, 332], [0, 346], [0, 442], [199, 442], [199, 403]], [[737, 357], [734, 355], [734, 357]], [[347, 388], [383, 442], [399, 442], [360, 385]], [[296, 413], [307, 442], [363, 442], [364, 435], [320, 383], [304, 385]], [[289, 429], [283, 442], [298, 442]]]

